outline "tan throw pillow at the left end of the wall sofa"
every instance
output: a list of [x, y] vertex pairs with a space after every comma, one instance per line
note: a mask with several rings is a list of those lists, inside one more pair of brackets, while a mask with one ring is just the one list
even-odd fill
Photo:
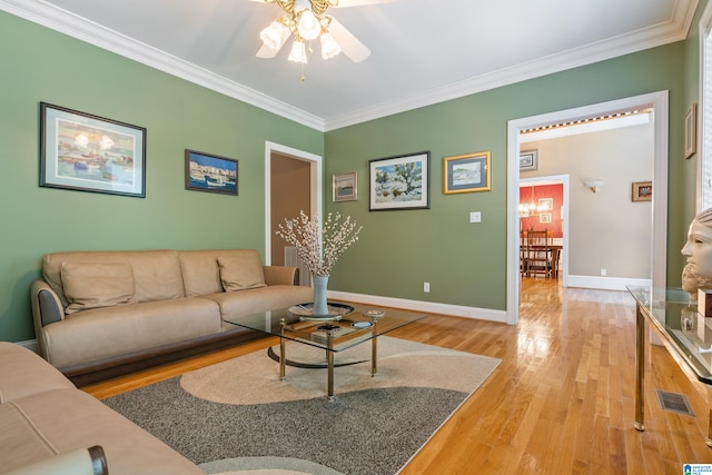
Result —
[[123, 263], [62, 263], [66, 314], [135, 304], [134, 269]]

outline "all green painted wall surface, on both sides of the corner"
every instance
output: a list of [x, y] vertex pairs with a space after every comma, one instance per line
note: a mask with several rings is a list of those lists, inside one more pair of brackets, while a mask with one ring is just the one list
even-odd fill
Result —
[[[0, 339], [33, 338], [29, 288], [61, 250], [257, 248], [264, 255], [264, 147], [325, 157], [325, 209], [364, 226], [329, 288], [487, 309], [506, 301], [506, 128], [522, 117], [670, 91], [668, 281], [694, 216], [696, 157], [683, 156], [698, 97], [688, 41], [553, 73], [326, 133], [0, 12]], [[40, 188], [39, 102], [147, 128], [146, 198]], [[239, 160], [239, 196], [189, 191], [184, 149]], [[431, 151], [431, 209], [368, 211], [368, 161]], [[492, 190], [444, 195], [443, 158], [490, 150]], [[332, 202], [332, 175], [358, 172], [357, 201]], [[468, 222], [482, 211], [482, 222]], [[431, 293], [423, 293], [423, 281]]]

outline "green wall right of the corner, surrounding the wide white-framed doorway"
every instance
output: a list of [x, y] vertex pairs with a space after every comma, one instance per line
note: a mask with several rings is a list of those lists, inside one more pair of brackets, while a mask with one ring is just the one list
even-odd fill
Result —
[[[691, 162], [682, 154], [684, 66], [681, 41], [327, 132], [327, 176], [357, 170], [360, 197], [327, 209], [364, 226], [329, 288], [505, 309], [507, 121], [660, 90], [670, 91], [670, 225], [686, 229], [689, 214], [679, 211], [694, 189], [679, 186]], [[432, 152], [431, 209], [369, 212], [368, 160], [422, 150]], [[482, 150], [492, 152], [492, 190], [444, 195], [443, 158]], [[482, 211], [482, 222], [469, 224], [469, 211]], [[671, 284], [680, 280], [682, 244], [671, 236]]]

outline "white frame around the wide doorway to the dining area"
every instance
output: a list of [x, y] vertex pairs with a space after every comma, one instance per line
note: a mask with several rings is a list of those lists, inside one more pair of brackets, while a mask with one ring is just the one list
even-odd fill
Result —
[[655, 287], [666, 286], [668, 273], [668, 123], [669, 92], [659, 91], [595, 103], [574, 109], [526, 117], [507, 122], [507, 236], [506, 236], [506, 313], [507, 324], [520, 321], [520, 258], [518, 258], [518, 206], [520, 206], [520, 131], [597, 115], [611, 113], [636, 107], [654, 109], [654, 162], [653, 182], [655, 192], [652, 202], [653, 236], [651, 246], [652, 283]]

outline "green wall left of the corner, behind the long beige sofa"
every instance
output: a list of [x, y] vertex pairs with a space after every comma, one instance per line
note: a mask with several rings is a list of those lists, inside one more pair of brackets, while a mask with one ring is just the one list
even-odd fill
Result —
[[[324, 135], [0, 12], [0, 340], [32, 339], [43, 254], [249, 247], [264, 255], [264, 150]], [[147, 129], [146, 198], [39, 187], [39, 102]], [[239, 160], [239, 196], [189, 191], [184, 149]]]

